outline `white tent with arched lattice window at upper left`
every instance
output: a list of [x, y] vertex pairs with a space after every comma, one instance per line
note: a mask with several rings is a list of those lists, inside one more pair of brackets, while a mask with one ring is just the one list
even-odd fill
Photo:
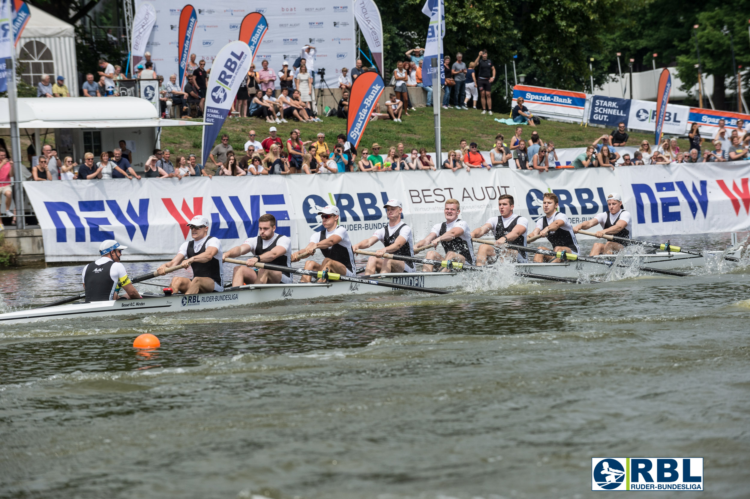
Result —
[[78, 97], [75, 28], [43, 10], [28, 5], [31, 18], [16, 46], [24, 81], [36, 85], [43, 73], [65, 76], [71, 97]]

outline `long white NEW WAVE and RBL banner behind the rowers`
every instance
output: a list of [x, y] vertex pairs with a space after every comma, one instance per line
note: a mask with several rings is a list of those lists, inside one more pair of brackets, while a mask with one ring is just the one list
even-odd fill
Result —
[[278, 220], [278, 232], [299, 248], [322, 227], [316, 207], [337, 205], [341, 224], [358, 242], [388, 223], [383, 203], [392, 198], [404, 202], [404, 217], [418, 240], [444, 220], [446, 199], [461, 202], [460, 217], [474, 228], [496, 214], [499, 194], [509, 193], [517, 213], [533, 224], [541, 217], [547, 191], [556, 193], [560, 211], [572, 223], [604, 211], [608, 193], [621, 193], [625, 209], [633, 214], [636, 237], [745, 231], [750, 222], [748, 179], [750, 162], [568, 169], [543, 175], [483, 169], [30, 181], [24, 187], [42, 227], [47, 261], [90, 261], [99, 243], [111, 238], [128, 247], [125, 259], [165, 261], [188, 237], [185, 224], [194, 214], [208, 216], [211, 235], [228, 248], [256, 237], [258, 217], [270, 213]]

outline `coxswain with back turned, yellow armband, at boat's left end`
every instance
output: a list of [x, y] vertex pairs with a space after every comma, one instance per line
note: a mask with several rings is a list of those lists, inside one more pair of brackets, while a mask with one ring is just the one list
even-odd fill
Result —
[[117, 292], [123, 289], [130, 299], [140, 298], [140, 294], [130, 282], [125, 266], [120, 263], [122, 250], [114, 239], [107, 239], [99, 245], [101, 258], [83, 267], [83, 288], [86, 289], [86, 301], [117, 300]]

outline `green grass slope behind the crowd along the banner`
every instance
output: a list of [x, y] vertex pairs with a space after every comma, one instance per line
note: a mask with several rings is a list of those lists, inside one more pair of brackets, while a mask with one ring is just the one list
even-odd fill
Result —
[[[508, 142], [514, 133], [514, 127], [500, 124], [494, 118], [507, 118], [508, 115], [481, 115], [475, 109], [458, 111], [456, 109], [441, 109], [441, 136], [443, 138], [443, 151], [449, 148], [458, 148], [460, 139], [468, 142], [477, 142], [480, 151], [489, 151], [495, 143], [497, 133], [505, 136]], [[373, 142], [378, 142], [383, 148], [382, 154], [387, 154], [389, 146], [404, 142], [407, 149], [427, 148], [428, 151], [435, 149], [434, 117], [432, 108], [418, 108], [411, 111], [410, 116], [402, 118], [403, 123], [393, 121], [371, 121], [368, 124], [365, 135], [360, 142], [360, 148], [368, 148]], [[229, 143], [235, 151], [242, 151], [248, 140], [248, 130], [255, 130], [257, 140], [263, 141], [269, 136], [269, 127], [263, 118], [227, 118], [224, 122], [222, 133], [229, 134]], [[326, 133], [326, 142], [332, 146], [336, 142], [339, 133], [347, 133], [347, 123], [340, 118], [323, 118], [323, 123], [299, 123], [291, 121], [276, 125], [278, 135], [283, 139], [290, 136], [294, 128], [302, 130], [303, 140], [315, 140], [319, 132]], [[539, 136], [545, 142], [552, 141], [556, 148], [575, 148], [590, 144], [598, 136], [610, 133], [610, 129], [598, 127], [581, 127], [578, 124], [559, 123], [556, 121], [542, 120], [536, 127], [524, 126], [523, 138], [529, 139], [532, 130], [538, 130]], [[161, 147], [169, 148], [177, 154], [198, 154], [201, 145], [200, 127], [167, 127], [162, 129]], [[628, 132], [630, 138], [628, 145], [637, 147], [643, 139], [653, 142], [652, 133]], [[685, 151], [688, 148], [686, 139], [679, 139], [679, 148]], [[217, 140], [218, 143], [218, 140]], [[652, 145], [653, 146], [653, 145]]]

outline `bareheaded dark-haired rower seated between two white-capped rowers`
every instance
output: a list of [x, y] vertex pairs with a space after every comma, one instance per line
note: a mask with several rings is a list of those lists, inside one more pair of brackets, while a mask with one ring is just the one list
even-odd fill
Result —
[[292, 274], [289, 272], [262, 268], [256, 273], [254, 269], [254, 264], [259, 261], [284, 267], [292, 266], [292, 240], [285, 235], [276, 234], [276, 217], [272, 214], [267, 213], [258, 218], [257, 238], [247, 238], [239, 246], [227, 249], [223, 259], [226, 261], [226, 258], [236, 258], [247, 252], [251, 252], [253, 256], [248, 258], [244, 267], [237, 265], [234, 268], [233, 286], [292, 282]]

